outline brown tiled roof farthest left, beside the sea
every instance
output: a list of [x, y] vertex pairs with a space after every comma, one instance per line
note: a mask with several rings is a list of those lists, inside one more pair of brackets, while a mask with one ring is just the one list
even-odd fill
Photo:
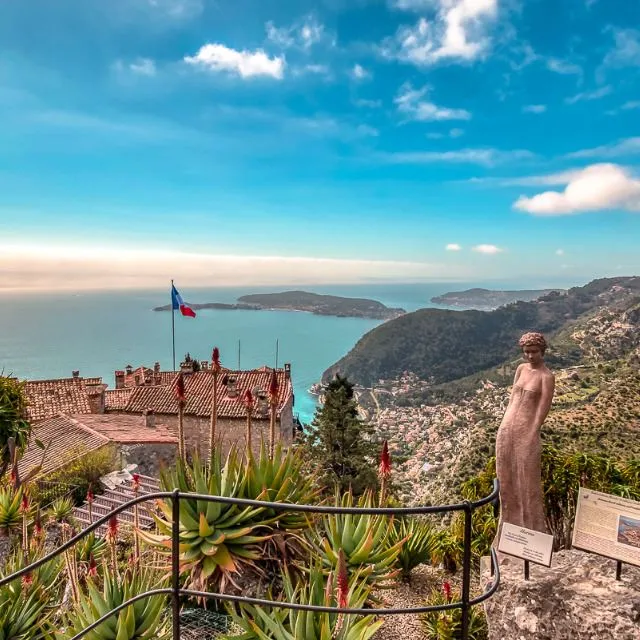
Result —
[[59, 413], [91, 413], [87, 386], [101, 383], [101, 378], [28, 380], [25, 385], [27, 417], [34, 422]]

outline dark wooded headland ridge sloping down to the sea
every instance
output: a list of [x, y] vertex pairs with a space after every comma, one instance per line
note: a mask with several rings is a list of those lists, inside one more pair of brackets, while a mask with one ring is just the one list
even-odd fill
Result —
[[[404, 373], [431, 385], [458, 380], [517, 358], [517, 340], [525, 331], [551, 335], [585, 313], [613, 309], [634, 295], [640, 295], [640, 277], [594, 280], [488, 312], [421, 309], [368, 332], [322, 379], [340, 372], [365, 387]], [[580, 355], [572, 344], [560, 354], [551, 364], [575, 363]]]

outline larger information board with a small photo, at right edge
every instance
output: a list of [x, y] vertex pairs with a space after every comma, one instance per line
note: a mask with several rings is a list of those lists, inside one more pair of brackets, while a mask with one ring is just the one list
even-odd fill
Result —
[[640, 567], [640, 502], [581, 487], [572, 544]]

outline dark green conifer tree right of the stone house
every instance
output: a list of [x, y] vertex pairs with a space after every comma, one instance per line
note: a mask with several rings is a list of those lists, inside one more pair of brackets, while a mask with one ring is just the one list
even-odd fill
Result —
[[338, 486], [359, 495], [377, 488], [373, 428], [358, 417], [353, 384], [339, 375], [329, 383], [303, 446], [328, 491]]

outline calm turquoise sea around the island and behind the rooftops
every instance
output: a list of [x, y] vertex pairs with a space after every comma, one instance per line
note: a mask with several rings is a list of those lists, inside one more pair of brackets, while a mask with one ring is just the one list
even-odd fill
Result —
[[[305, 291], [379, 300], [406, 311], [433, 307], [447, 291], [472, 287], [531, 288], [530, 283], [420, 283], [304, 286]], [[294, 287], [286, 287], [293, 289]], [[274, 287], [179, 287], [191, 303], [235, 302]], [[171, 313], [153, 308], [170, 303], [169, 288], [123, 291], [0, 291], [0, 373], [21, 379], [102, 376], [110, 388], [114, 371], [131, 364], [171, 369]], [[296, 311], [199, 310], [196, 318], [175, 316], [176, 363], [188, 352], [210, 359], [220, 349], [223, 366], [249, 369], [291, 364], [294, 413], [312, 420], [317, 398], [309, 388], [325, 369], [380, 324], [366, 318], [337, 318]]]

